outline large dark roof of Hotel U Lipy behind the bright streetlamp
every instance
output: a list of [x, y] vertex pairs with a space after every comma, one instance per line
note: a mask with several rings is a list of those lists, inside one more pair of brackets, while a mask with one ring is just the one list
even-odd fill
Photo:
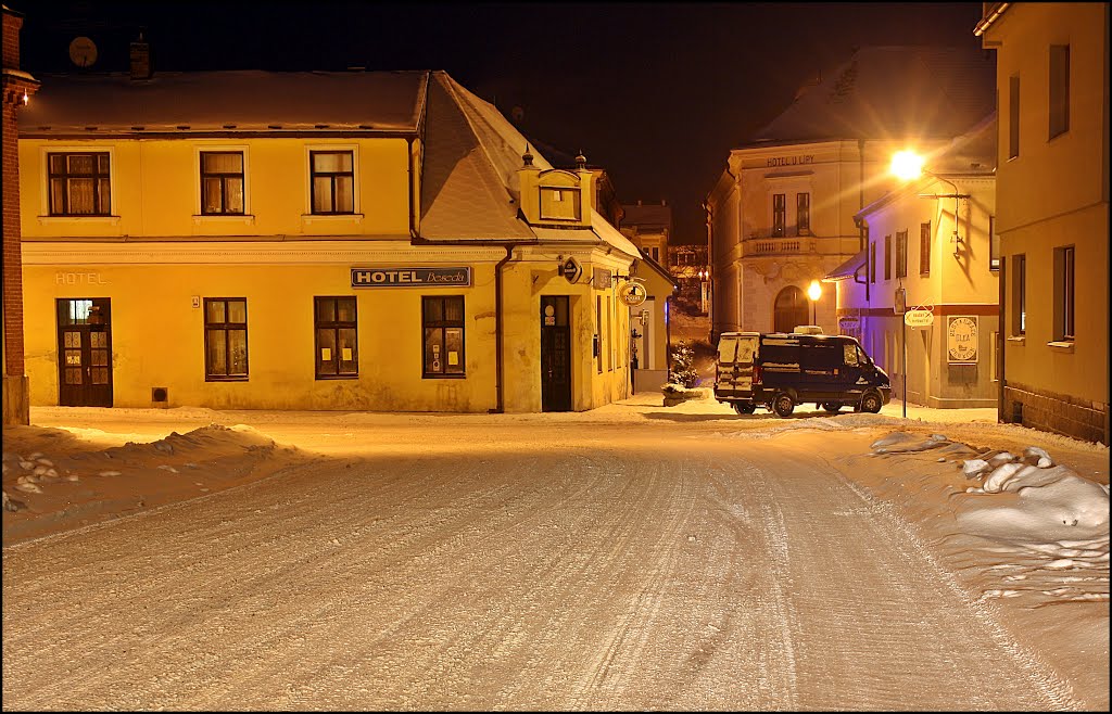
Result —
[[954, 137], [993, 110], [995, 89], [995, 53], [975, 47], [862, 48], [753, 142]]

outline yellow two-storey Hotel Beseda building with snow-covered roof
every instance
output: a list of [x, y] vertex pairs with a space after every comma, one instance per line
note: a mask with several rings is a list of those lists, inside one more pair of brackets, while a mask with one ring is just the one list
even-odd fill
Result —
[[629, 394], [639, 253], [595, 211], [585, 160], [553, 169], [444, 72], [148, 66], [44, 76], [20, 113], [31, 404]]

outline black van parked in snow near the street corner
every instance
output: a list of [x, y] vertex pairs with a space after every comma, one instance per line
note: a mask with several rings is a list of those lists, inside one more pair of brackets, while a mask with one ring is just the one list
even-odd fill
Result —
[[718, 338], [714, 396], [738, 414], [752, 414], [764, 404], [788, 416], [806, 402], [831, 413], [853, 406], [875, 414], [892, 399], [892, 384], [851, 336], [724, 332]]

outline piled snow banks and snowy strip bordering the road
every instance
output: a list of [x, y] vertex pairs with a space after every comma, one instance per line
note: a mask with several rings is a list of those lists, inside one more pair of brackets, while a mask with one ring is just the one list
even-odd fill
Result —
[[1050, 643], [1046, 656], [1066, 668], [1084, 671], [1103, 658], [1094, 687], [1108, 691], [1108, 446], [997, 424], [995, 410], [907, 405], [903, 419], [898, 402], [880, 414], [801, 405], [778, 419], [764, 410], [736, 415], [709, 390], [698, 392], [701, 399], [671, 408], [656, 392], [562, 414], [34, 408], [41, 425], [3, 430], [3, 544], [168, 503], [196, 499], [203, 507], [221, 490], [307, 460], [366, 454], [374, 444], [364, 435], [380, 429], [651, 424], [674, 428], [693, 447], [698, 440], [813, 432], [818, 453], [823, 433], [854, 431], [868, 435], [870, 450], [834, 464], [847, 481], [911, 523], [1014, 636]]

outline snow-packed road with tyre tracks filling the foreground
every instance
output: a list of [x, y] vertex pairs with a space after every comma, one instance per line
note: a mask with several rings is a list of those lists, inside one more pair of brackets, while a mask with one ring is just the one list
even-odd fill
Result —
[[1074, 706], [838, 471], [866, 434], [409, 433], [6, 549], [4, 708]]

